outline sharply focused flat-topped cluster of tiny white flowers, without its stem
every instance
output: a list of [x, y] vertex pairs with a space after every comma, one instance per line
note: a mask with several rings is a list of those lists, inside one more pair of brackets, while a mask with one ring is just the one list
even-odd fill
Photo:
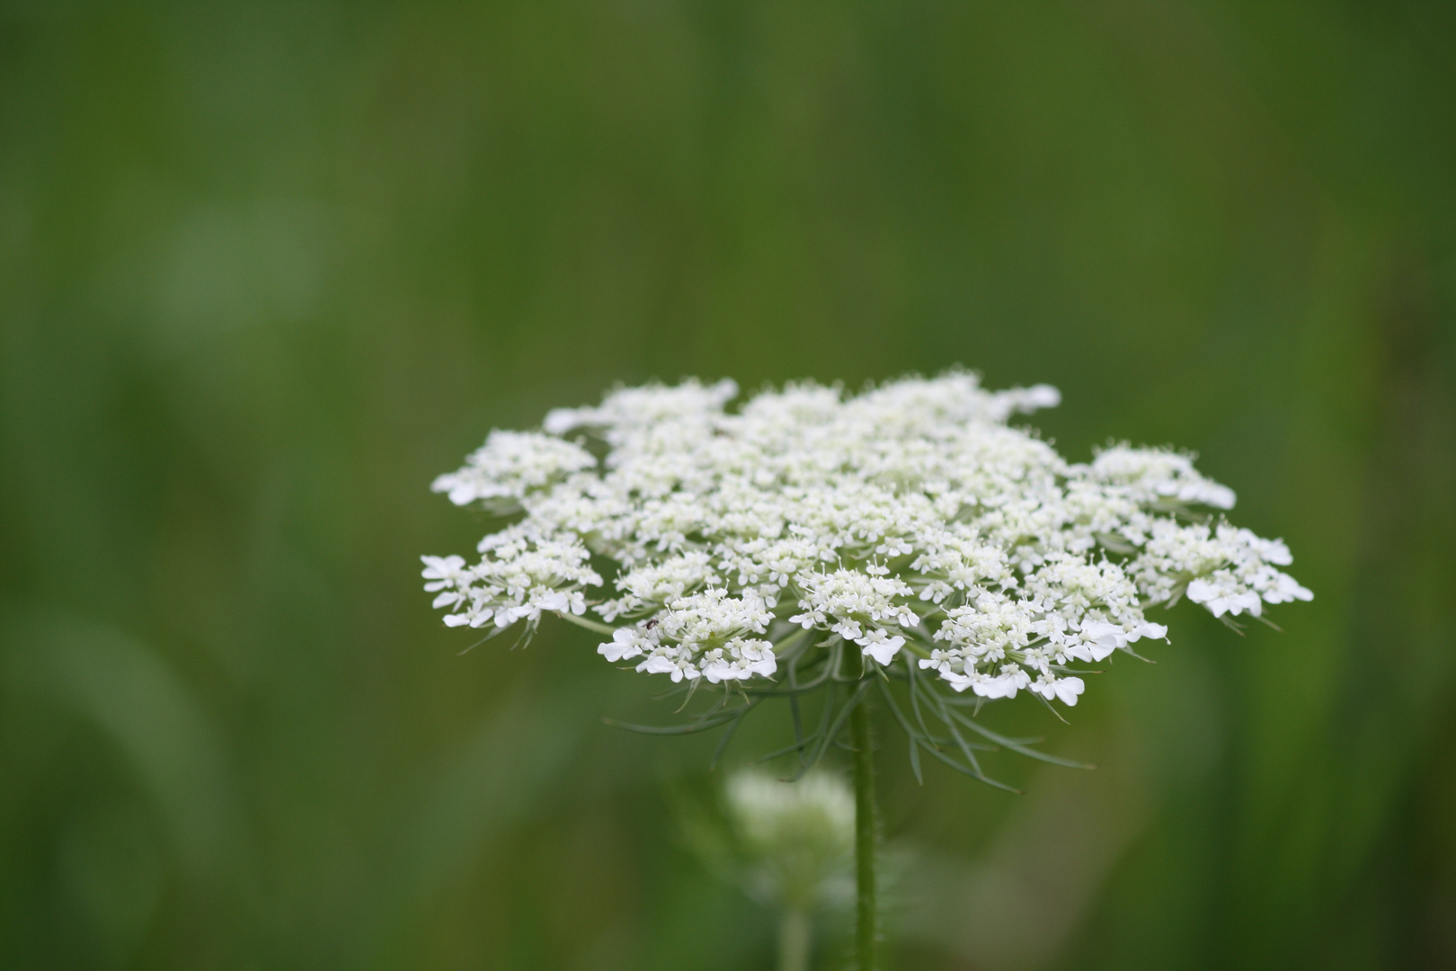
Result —
[[475, 563], [424, 558], [446, 623], [590, 609], [609, 661], [712, 683], [772, 677], [776, 645], [808, 629], [866, 665], [907, 654], [957, 691], [1075, 705], [1075, 664], [1166, 635], [1152, 606], [1258, 616], [1310, 598], [1278, 569], [1281, 542], [1216, 518], [1233, 492], [1187, 456], [1117, 445], [1069, 463], [1006, 424], [1059, 403], [1053, 387], [987, 392], [960, 371], [859, 396], [802, 383], [732, 412], [737, 392], [620, 389], [540, 431], [492, 431], [434, 483], [510, 517]]

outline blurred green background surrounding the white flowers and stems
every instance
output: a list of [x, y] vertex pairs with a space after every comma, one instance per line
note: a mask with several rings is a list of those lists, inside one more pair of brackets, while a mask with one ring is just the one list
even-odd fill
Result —
[[[1050, 381], [1312, 604], [1010, 796], [882, 726], [894, 968], [1456, 967], [1456, 7], [0, 3], [0, 964], [767, 968], [712, 740], [428, 492], [614, 381]], [[772, 718], [728, 753], [780, 744]], [[721, 772], [718, 773], [721, 774]], [[820, 967], [843, 942], [821, 939]]]

